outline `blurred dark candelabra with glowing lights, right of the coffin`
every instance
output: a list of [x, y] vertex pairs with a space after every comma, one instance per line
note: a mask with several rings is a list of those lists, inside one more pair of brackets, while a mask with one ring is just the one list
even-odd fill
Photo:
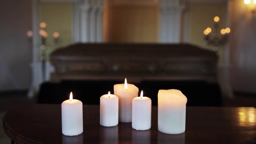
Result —
[[[219, 30], [219, 21], [220, 18], [218, 16], [214, 17], [214, 29], [212, 30], [210, 27], [203, 31], [204, 33], [204, 41], [205, 45], [213, 45], [213, 51], [217, 52], [219, 46], [224, 45], [229, 38], [230, 28]], [[220, 35], [221, 33], [221, 35]]]

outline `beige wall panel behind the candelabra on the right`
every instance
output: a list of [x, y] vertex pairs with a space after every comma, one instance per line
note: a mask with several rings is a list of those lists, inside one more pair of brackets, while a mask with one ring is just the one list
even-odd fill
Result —
[[[212, 50], [212, 46], [203, 44], [203, 30], [213, 29], [215, 16], [220, 17], [220, 29], [225, 27], [226, 4], [191, 4], [190, 5], [190, 43], [204, 49]], [[223, 46], [218, 51], [219, 63], [223, 63]]]

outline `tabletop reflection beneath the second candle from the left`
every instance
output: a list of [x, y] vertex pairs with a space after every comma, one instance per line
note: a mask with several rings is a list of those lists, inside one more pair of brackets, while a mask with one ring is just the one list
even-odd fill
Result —
[[118, 125], [100, 128], [100, 144], [118, 144]]

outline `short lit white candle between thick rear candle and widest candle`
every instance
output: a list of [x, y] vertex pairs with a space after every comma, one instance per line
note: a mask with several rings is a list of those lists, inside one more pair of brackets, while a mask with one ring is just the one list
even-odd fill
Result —
[[131, 127], [135, 130], [148, 130], [151, 128], [151, 99], [143, 96], [132, 100], [132, 122]]

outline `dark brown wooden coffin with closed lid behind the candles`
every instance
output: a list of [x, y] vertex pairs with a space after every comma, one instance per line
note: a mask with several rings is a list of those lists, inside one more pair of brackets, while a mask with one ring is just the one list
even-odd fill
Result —
[[50, 55], [52, 81], [217, 81], [217, 55], [189, 44], [79, 43]]

